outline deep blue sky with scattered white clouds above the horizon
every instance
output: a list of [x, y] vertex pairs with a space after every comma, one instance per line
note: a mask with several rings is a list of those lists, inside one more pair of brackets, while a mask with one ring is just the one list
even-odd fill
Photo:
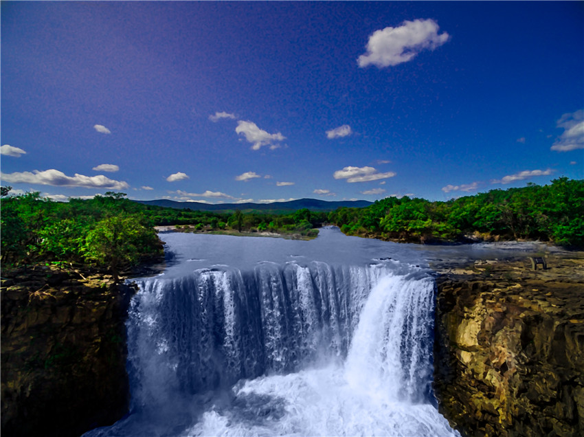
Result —
[[446, 200], [584, 177], [582, 2], [1, 2], [1, 179]]

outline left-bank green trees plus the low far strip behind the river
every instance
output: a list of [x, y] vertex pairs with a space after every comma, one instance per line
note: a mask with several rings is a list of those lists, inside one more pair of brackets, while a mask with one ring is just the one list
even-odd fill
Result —
[[233, 214], [176, 210], [143, 205], [126, 194], [106, 192], [90, 200], [67, 203], [38, 192], [1, 201], [1, 263], [3, 269], [51, 263], [61, 268], [92, 266], [109, 271], [114, 280], [128, 267], [162, 254], [155, 225], [177, 225], [193, 232], [274, 232], [304, 237], [326, 221], [326, 212], [306, 209], [289, 214]]

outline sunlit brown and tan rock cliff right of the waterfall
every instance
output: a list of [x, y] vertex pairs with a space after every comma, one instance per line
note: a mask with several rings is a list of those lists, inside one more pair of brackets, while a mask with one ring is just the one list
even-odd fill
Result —
[[[437, 278], [434, 389], [466, 436], [584, 435], [584, 259], [488, 261]], [[571, 258], [571, 259], [570, 259]]]

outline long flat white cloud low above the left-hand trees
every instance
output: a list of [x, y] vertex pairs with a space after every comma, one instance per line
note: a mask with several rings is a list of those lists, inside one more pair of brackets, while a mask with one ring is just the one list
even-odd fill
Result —
[[73, 177], [55, 170], [33, 172], [14, 172], [10, 174], [2, 173], [1, 178], [10, 183], [37, 183], [39, 185], [67, 186], [82, 188], [109, 188], [111, 190], [125, 190], [129, 188], [128, 183], [124, 181], [115, 181], [104, 175], [84, 176], [76, 173]]

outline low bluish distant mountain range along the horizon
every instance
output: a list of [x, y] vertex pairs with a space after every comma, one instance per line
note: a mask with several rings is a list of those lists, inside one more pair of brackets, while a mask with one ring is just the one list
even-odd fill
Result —
[[313, 211], [333, 211], [340, 207], [364, 208], [371, 205], [369, 201], [322, 201], [318, 199], [297, 199], [288, 202], [273, 203], [210, 203], [201, 202], [177, 202], [168, 199], [156, 199], [151, 201], [135, 201], [144, 205], [164, 206], [165, 208], [176, 208], [193, 211], [225, 211], [225, 210], [260, 210], [260, 211], [296, 211], [308, 208]]

